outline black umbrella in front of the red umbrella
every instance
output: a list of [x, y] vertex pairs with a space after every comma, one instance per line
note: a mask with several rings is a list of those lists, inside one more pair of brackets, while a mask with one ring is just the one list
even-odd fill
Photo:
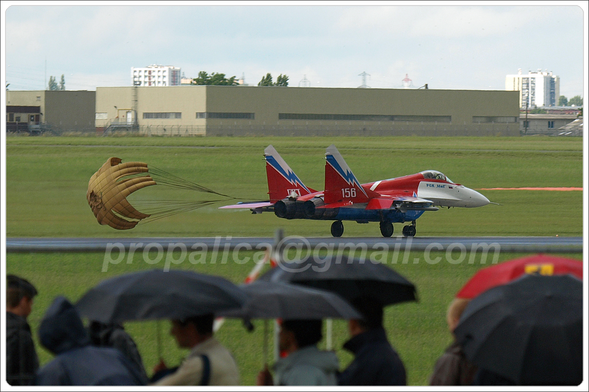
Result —
[[454, 330], [466, 358], [519, 385], [583, 381], [583, 282], [529, 274], [473, 299]]

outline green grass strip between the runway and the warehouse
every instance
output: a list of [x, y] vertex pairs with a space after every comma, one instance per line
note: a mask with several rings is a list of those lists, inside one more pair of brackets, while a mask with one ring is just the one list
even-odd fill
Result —
[[[101, 143], [110, 145], [101, 145]], [[162, 146], [153, 146], [161, 142]], [[329, 222], [279, 220], [272, 213], [204, 207], [117, 232], [97, 225], [85, 199], [88, 179], [107, 158], [140, 160], [217, 192], [267, 197], [263, 149], [274, 143], [309, 187], [323, 189], [325, 147], [334, 140], [282, 138], [8, 138], [7, 236], [273, 236], [329, 235]], [[182, 146], [174, 146], [174, 144]], [[192, 143], [192, 146], [186, 146]], [[340, 152], [361, 182], [436, 169], [477, 188], [583, 186], [581, 140], [556, 138], [340, 138]], [[406, 149], [399, 149], [399, 145]], [[206, 148], [206, 147], [209, 148]], [[427, 146], [427, 149], [424, 148]], [[205, 148], [203, 148], [205, 147]], [[566, 235], [582, 232], [582, 192], [481, 191], [493, 202], [477, 209], [426, 212], [418, 235]], [[211, 200], [211, 195], [154, 186], [130, 200]], [[225, 204], [233, 203], [233, 201]], [[399, 232], [401, 225], [396, 227]], [[378, 236], [376, 224], [346, 223], [344, 236]], [[531, 231], [528, 231], [531, 230]]]

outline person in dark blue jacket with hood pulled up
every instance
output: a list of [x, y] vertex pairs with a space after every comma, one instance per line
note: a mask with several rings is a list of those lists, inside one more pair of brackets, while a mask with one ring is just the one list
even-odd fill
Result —
[[55, 359], [39, 369], [41, 386], [139, 386], [147, 380], [118, 350], [94, 347], [75, 307], [57, 297], [39, 326], [39, 340]]

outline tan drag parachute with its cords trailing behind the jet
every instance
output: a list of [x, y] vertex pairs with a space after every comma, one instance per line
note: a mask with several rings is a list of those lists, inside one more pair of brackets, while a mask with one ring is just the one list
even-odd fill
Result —
[[194, 210], [220, 200], [198, 200], [186, 202], [181, 200], [155, 200], [135, 202], [149, 209], [149, 213], [139, 212], [127, 201], [127, 196], [146, 186], [164, 185], [181, 189], [196, 190], [198, 192], [214, 193], [214, 190], [196, 183], [171, 175], [164, 170], [148, 166], [144, 162], [123, 163], [120, 158], [108, 158], [107, 162], [98, 169], [88, 182], [86, 199], [94, 216], [101, 225], [108, 225], [117, 230], [133, 229], [142, 220], [155, 220], [164, 216], [174, 215], [184, 211]]

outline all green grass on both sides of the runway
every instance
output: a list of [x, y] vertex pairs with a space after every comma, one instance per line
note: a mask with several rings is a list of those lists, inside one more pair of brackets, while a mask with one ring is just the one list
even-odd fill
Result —
[[[85, 200], [88, 179], [111, 156], [123, 162], [140, 160], [220, 193], [262, 200], [266, 196], [263, 149], [272, 144], [307, 186], [323, 189], [323, 155], [335, 143], [360, 182], [407, 175], [425, 169], [445, 173], [457, 183], [491, 187], [581, 187], [581, 139], [558, 138], [51, 138], [6, 139], [6, 236], [8, 237], [145, 237], [145, 236], [264, 236], [277, 227], [286, 235], [329, 236], [330, 222], [282, 220], [267, 213], [252, 216], [215, 206], [167, 217], [133, 230], [118, 232], [100, 226]], [[141, 195], [139, 195], [141, 193]], [[524, 190], [481, 191], [502, 206], [426, 212], [417, 223], [418, 236], [581, 236], [582, 192]], [[140, 199], [206, 199], [201, 193], [151, 187], [133, 195]], [[226, 202], [230, 204], [233, 202]], [[219, 205], [223, 205], [220, 203]], [[380, 236], [378, 225], [346, 223], [346, 236]], [[395, 233], [401, 232], [401, 225]], [[396, 234], [395, 234], [396, 235]], [[244, 253], [247, 255], [247, 253]], [[427, 383], [435, 360], [451, 341], [445, 310], [462, 284], [482, 267], [475, 263], [441, 262], [388, 264], [418, 287], [419, 302], [386, 309], [389, 339], [401, 355], [412, 385]], [[499, 260], [519, 254], [502, 253]], [[210, 257], [210, 254], [209, 254]], [[412, 253], [423, 259], [423, 253]], [[434, 257], [434, 256], [432, 256]], [[581, 259], [581, 255], [573, 255]], [[220, 260], [220, 259], [219, 259]], [[466, 257], [468, 260], [468, 257]], [[136, 255], [132, 263], [111, 265], [101, 272], [104, 254], [48, 253], [6, 255], [6, 272], [30, 279], [41, 293], [29, 320], [37, 330], [42, 314], [58, 294], [72, 301], [102, 279], [117, 274], [160, 268]], [[487, 262], [489, 263], [489, 262]], [[487, 264], [488, 265], [488, 264]], [[179, 264], [179, 268], [218, 274], [243, 281], [253, 263]], [[219, 339], [236, 356], [242, 384], [252, 385], [262, 367], [262, 323], [247, 333], [240, 321], [227, 320]], [[169, 325], [159, 323], [164, 336], [164, 359], [177, 364], [186, 351], [168, 336]], [[148, 370], [157, 363], [155, 322], [129, 323]], [[334, 345], [345, 367], [352, 359], [340, 349], [348, 339], [343, 321], [334, 323]], [[51, 359], [37, 345], [42, 363]]]

